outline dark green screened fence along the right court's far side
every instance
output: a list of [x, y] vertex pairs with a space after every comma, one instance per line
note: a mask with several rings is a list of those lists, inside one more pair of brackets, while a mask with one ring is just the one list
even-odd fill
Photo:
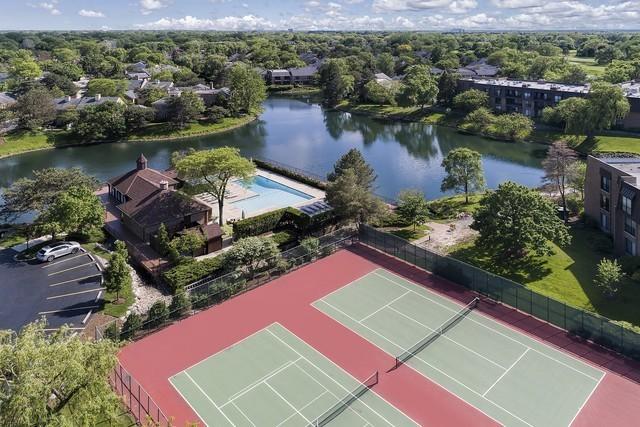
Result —
[[358, 237], [360, 242], [409, 264], [545, 320], [571, 334], [640, 360], [640, 334], [613, 320], [556, 301], [519, 283], [418, 247], [367, 225], [360, 226]]

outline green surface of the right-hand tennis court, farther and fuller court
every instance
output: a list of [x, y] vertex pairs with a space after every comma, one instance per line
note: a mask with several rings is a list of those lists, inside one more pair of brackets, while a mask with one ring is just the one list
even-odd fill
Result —
[[[462, 308], [384, 269], [313, 305], [392, 356], [411, 349]], [[477, 310], [405, 364], [508, 426], [570, 425], [604, 376]]]

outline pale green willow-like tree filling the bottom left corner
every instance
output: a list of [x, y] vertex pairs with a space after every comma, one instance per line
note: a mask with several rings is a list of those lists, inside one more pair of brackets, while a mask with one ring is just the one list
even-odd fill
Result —
[[67, 327], [25, 326], [0, 341], [0, 425], [97, 425], [116, 420], [120, 401], [107, 381], [118, 345], [87, 340]]

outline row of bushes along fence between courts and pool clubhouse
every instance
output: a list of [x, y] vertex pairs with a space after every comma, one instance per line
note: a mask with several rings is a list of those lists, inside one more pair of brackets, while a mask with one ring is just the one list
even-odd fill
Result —
[[96, 327], [95, 338], [114, 340], [142, 338], [173, 321], [190, 316], [195, 310], [203, 310], [219, 304], [319, 258], [331, 255], [336, 250], [351, 246], [357, 240], [356, 234], [355, 229], [336, 230], [323, 236], [318, 249], [313, 252], [296, 246], [276, 257], [264, 260], [257, 268], [237, 270], [219, 277], [198, 280], [184, 287], [186, 294], [177, 293], [168, 307], [163, 302], [157, 301], [146, 315], [139, 316], [136, 321], [130, 321], [131, 316], [129, 316], [124, 324], [116, 319]]

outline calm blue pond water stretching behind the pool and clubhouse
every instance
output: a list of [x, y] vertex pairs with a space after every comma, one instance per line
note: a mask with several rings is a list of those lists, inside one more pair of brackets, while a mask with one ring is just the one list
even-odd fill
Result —
[[106, 180], [135, 167], [140, 153], [151, 167], [166, 168], [173, 151], [224, 145], [240, 148], [245, 156], [273, 159], [321, 175], [349, 149], [358, 148], [378, 173], [377, 192], [391, 198], [406, 188], [420, 189], [428, 198], [440, 196], [442, 157], [458, 147], [482, 154], [490, 188], [506, 180], [537, 186], [546, 152], [544, 145], [497, 142], [444, 127], [325, 111], [311, 99], [270, 98], [259, 120], [223, 134], [61, 148], [0, 159], [0, 187], [47, 167], [79, 167]]

